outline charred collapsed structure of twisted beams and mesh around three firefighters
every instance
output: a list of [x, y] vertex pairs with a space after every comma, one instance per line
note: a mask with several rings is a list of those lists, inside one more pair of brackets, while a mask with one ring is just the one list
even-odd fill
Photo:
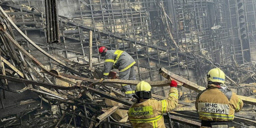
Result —
[[[256, 126], [254, 0], [58, 0], [57, 18], [51, 1], [0, 3], [1, 127], [131, 128], [119, 84], [145, 80], [165, 99], [169, 77], [183, 86], [166, 127], [199, 127], [195, 97], [214, 67], [246, 103], [234, 125]], [[100, 46], [129, 53], [138, 81], [99, 83]]]

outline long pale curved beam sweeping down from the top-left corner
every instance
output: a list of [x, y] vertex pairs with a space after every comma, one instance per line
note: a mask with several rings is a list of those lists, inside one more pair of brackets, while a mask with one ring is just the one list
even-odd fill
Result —
[[35, 48], [37, 48], [38, 51], [40, 51], [41, 53], [43, 53], [44, 55], [46, 55], [47, 57], [53, 59], [54, 61], [58, 62], [60, 65], [67, 67], [68, 69], [70, 69], [71, 71], [80, 74], [79, 71], [73, 69], [70, 66], [67, 66], [65, 63], [61, 62], [60, 60], [58, 60], [57, 58], [55, 58], [54, 56], [48, 54], [47, 52], [45, 52], [42, 48], [40, 48], [37, 44], [35, 44], [33, 41], [31, 41], [13, 22], [12, 20], [8, 17], [8, 15], [4, 12], [4, 10], [2, 9], [2, 7], [0, 6], [0, 12], [2, 15], [4, 15], [7, 19], [7, 21], [14, 27], [14, 29], [20, 33], [22, 35], [23, 38], [25, 38], [32, 46], [34, 46]]

